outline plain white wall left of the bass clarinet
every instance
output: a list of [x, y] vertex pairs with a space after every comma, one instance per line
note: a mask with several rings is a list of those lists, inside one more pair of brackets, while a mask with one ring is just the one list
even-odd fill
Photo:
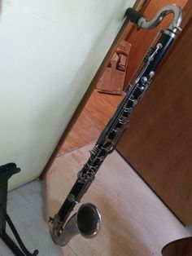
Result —
[[2, 0], [0, 164], [36, 178], [134, 0]]

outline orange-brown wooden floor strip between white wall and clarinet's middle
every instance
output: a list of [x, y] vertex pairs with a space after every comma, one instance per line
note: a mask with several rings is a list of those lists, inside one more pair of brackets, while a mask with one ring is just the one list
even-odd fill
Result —
[[121, 95], [103, 94], [94, 90], [58, 155], [81, 148], [98, 139], [121, 99]]

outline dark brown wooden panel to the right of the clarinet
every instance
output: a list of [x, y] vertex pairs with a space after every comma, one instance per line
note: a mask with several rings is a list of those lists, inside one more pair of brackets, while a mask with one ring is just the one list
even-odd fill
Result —
[[119, 152], [185, 224], [192, 223], [192, 2], [183, 31], [130, 118]]

